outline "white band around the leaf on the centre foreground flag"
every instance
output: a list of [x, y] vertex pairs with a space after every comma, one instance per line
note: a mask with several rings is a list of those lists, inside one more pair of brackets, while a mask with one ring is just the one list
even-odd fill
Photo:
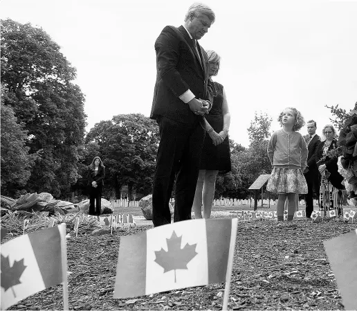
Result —
[[[208, 284], [208, 254], [205, 220], [195, 221], [194, 231], [190, 220], [176, 222], [172, 226], [159, 226], [155, 230], [147, 231], [147, 269], [146, 269], [146, 294], [165, 292], [189, 286]], [[191, 226], [191, 227], [190, 227]], [[190, 229], [188, 229], [190, 227]], [[164, 268], [154, 260], [154, 251], [164, 249], [167, 251], [167, 240], [170, 240], [175, 231], [178, 238], [181, 237], [181, 249], [188, 245], [196, 245], [196, 256], [187, 263], [187, 269], [170, 270], [164, 273]], [[176, 282], [175, 282], [176, 272]], [[194, 275], [192, 275], [192, 273]], [[196, 283], [192, 282], [193, 276]]]

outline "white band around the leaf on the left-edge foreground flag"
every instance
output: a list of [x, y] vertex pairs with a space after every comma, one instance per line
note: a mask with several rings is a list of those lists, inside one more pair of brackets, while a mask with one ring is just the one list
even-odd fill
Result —
[[[12, 267], [15, 260], [19, 261], [22, 258], [24, 258], [24, 265], [26, 266], [19, 278], [21, 284], [9, 288], [6, 292], [1, 287], [1, 310], [5, 310], [10, 305], [17, 303], [17, 301], [46, 288], [27, 234], [1, 245], [1, 255], [5, 256], [6, 260], [7, 258], [9, 259], [10, 267]], [[29, 284], [31, 286], [28, 286]], [[14, 290], [16, 297], [12, 290]]]

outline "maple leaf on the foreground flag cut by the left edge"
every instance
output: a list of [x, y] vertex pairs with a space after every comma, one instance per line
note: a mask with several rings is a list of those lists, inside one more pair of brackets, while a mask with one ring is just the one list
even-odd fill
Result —
[[1, 287], [5, 292], [11, 287], [12, 293], [16, 297], [12, 286], [21, 284], [21, 274], [24, 273], [26, 267], [24, 258], [19, 261], [15, 260], [12, 267], [10, 267], [9, 256], [5, 257], [1, 254]]

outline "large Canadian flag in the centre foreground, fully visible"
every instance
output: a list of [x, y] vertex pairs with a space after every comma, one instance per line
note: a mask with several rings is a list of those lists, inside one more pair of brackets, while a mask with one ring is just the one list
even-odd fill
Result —
[[123, 236], [113, 297], [225, 281], [228, 254], [232, 256], [235, 249], [230, 242], [235, 242], [236, 235], [235, 218], [186, 220]]

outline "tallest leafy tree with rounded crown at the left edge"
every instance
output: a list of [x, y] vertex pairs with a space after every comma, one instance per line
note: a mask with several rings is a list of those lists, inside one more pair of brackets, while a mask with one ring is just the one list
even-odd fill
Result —
[[37, 154], [26, 190], [66, 195], [78, 177], [86, 125], [84, 95], [71, 82], [75, 68], [42, 28], [11, 19], [1, 27], [3, 105], [27, 132], [28, 152]]

